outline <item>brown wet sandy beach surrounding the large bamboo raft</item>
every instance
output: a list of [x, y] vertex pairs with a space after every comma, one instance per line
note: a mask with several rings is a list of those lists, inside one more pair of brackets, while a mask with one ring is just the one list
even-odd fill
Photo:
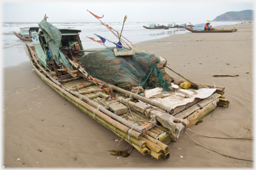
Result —
[[[194, 82], [225, 87], [229, 108], [219, 108], [192, 126], [217, 137], [253, 137], [253, 23], [218, 29], [235, 33], [185, 33], [136, 44], [162, 56], [168, 66]], [[48, 86], [31, 68], [20, 44], [3, 49], [2, 167], [11, 168], [245, 168], [253, 167], [253, 140], [216, 139], [187, 131], [169, 144], [168, 160], [157, 161], [133, 149], [115, 157], [120, 137], [84, 114]], [[22, 64], [13, 64], [15, 60]], [[177, 74], [165, 68], [168, 74]], [[213, 75], [239, 75], [213, 77]], [[120, 149], [127, 149], [127, 142]], [[241, 160], [245, 159], [245, 160]]]

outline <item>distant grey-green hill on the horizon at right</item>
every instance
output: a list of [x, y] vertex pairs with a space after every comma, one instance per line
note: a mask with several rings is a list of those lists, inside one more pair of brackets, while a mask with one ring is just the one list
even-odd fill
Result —
[[230, 11], [219, 15], [213, 21], [253, 21], [253, 10]]

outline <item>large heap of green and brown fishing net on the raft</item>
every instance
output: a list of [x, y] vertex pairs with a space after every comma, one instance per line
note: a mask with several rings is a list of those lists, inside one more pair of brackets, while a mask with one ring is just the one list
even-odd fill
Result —
[[[129, 50], [118, 49], [118, 52], [125, 51]], [[143, 89], [163, 87], [165, 91], [171, 91], [172, 78], [165, 72], [165, 58], [134, 52], [131, 56], [115, 56], [113, 48], [105, 48], [83, 55], [79, 64], [91, 76], [126, 90], [142, 86]]]

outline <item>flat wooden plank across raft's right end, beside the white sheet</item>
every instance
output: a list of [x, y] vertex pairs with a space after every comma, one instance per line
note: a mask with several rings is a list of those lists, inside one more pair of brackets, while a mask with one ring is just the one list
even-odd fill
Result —
[[187, 116], [189, 116], [190, 114], [192, 114], [193, 112], [195, 112], [196, 110], [199, 110], [199, 109], [203, 108], [203, 106], [206, 106], [210, 102], [213, 102], [213, 100], [219, 98], [220, 96], [221, 96], [221, 94], [215, 93], [215, 94], [211, 95], [209, 98], [201, 100], [197, 104], [191, 106], [190, 108], [187, 108], [187, 110], [184, 110], [183, 112], [180, 112], [179, 114], [175, 115], [175, 118], [184, 119]]

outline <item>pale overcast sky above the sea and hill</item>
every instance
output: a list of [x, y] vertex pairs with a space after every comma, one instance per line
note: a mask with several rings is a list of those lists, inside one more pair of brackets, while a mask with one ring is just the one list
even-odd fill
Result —
[[[96, 3], [96, 2], [97, 3]], [[228, 11], [254, 9], [253, 1], [2, 1], [2, 22], [40, 22], [46, 14], [51, 22], [205, 22]]]

